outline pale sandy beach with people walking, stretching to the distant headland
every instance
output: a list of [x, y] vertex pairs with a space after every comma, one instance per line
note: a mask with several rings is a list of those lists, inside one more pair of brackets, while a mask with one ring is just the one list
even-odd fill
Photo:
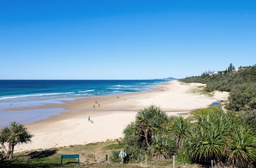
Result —
[[[62, 107], [64, 112], [47, 120], [26, 125], [28, 131], [34, 134], [32, 142], [15, 146], [15, 152], [85, 145], [121, 138], [124, 128], [135, 120], [137, 112], [151, 104], [160, 107], [169, 115], [178, 115], [227, 99], [227, 92], [215, 91], [213, 96], [198, 93], [202, 86], [201, 83], [187, 84], [173, 80], [156, 86], [153, 92], [97, 96], [67, 101], [64, 104], [28, 107]], [[91, 121], [88, 121], [89, 116]]]

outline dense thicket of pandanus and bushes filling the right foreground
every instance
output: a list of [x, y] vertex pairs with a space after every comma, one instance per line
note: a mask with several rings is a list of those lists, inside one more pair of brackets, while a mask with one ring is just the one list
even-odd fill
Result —
[[219, 167], [255, 165], [255, 130], [244, 118], [223, 112], [220, 104], [193, 115], [189, 122], [189, 118], [167, 117], [155, 106], [138, 112], [135, 122], [124, 129], [129, 161], [144, 161], [147, 154], [150, 161], [176, 155], [178, 161], [205, 166], [211, 161]]

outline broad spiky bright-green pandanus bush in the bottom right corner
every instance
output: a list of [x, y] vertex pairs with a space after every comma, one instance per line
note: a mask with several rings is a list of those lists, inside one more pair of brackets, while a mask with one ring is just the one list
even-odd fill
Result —
[[[209, 108], [211, 109], [211, 108]], [[197, 115], [187, 137], [192, 161], [211, 160], [219, 167], [250, 167], [256, 161], [256, 138], [248, 124], [225, 112]]]

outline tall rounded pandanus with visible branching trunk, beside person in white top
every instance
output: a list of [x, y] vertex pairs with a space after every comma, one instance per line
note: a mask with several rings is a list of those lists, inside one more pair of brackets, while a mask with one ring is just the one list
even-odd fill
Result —
[[159, 107], [151, 105], [137, 113], [135, 121], [124, 129], [124, 147], [129, 159], [141, 161], [145, 153], [151, 159], [170, 159], [175, 139], [166, 128], [170, 118]]

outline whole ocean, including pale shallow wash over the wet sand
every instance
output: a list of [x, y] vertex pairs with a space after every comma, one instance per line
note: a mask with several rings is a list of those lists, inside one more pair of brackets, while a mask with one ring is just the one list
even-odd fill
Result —
[[108, 96], [152, 91], [151, 87], [174, 78], [157, 80], [0, 80], [0, 127], [11, 121], [34, 123], [64, 109], [11, 110], [63, 103], [89, 96]]

